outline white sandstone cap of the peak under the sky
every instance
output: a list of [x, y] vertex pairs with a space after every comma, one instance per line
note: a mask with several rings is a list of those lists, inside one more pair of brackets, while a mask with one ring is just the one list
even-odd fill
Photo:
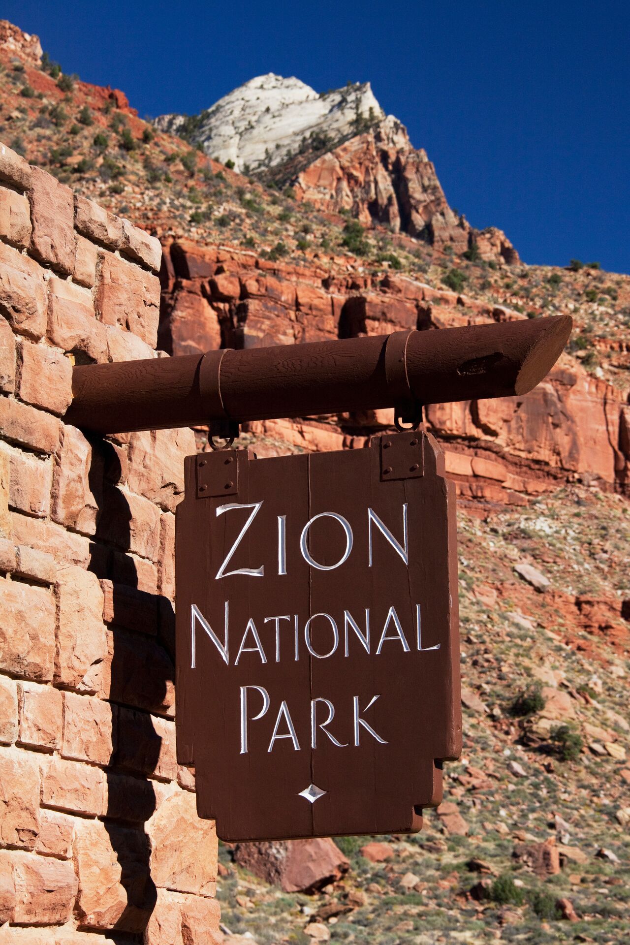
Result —
[[[361, 121], [384, 117], [369, 82], [317, 93], [296, 77], [267, 73], [250, 78], [199, 115], [195, 140], [211, 158], [233, 161], [238, 171], [255, 172], [296, 154], [305, 139], [331, 145], [358, 129]], [[165, 131], [178, 133], [184, 115], [156, 118]]]

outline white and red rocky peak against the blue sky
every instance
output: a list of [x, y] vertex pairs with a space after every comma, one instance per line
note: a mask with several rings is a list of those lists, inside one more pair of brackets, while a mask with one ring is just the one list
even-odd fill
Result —
[[369, 83], [317, 94], [271, 73], [205, 112], [161, 115], [155, 125], [237, 171], [290, 185], [319, 210], [349, 211], [439, 249], [461, 253], [477, 244], [486, 259], [519, 262], [504, 233], [472, 230], [451, 210], [426, 152], [411, 145], [397, 118], [385, 117]]

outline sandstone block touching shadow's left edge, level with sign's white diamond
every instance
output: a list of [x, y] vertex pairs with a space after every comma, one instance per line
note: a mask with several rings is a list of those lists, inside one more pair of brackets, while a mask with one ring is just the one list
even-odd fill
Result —
[[44, 807], [97, 817], [105, 813], [105, 775], [100, 768], [57, 757], [41, 765]]

